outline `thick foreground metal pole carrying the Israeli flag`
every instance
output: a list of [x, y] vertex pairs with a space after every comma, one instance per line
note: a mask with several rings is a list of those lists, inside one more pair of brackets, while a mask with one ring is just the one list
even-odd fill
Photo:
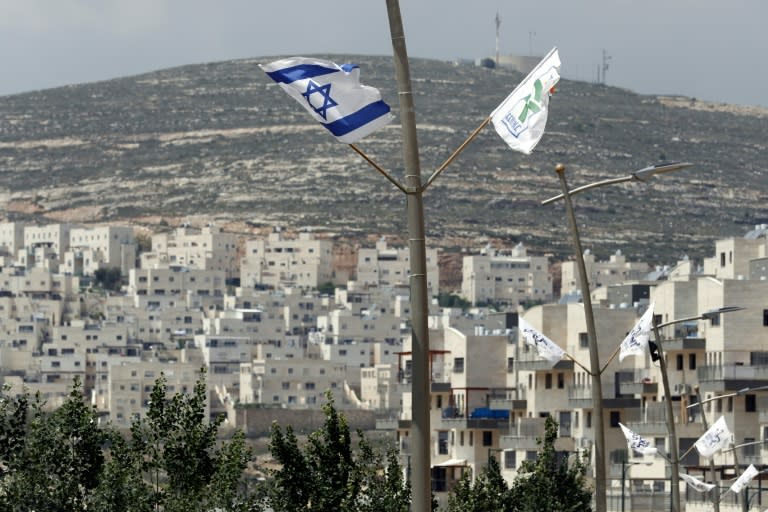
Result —
[[[411, 74], [405, 32], [400, 15], [399, 0], [387, 0], [389, 30], [395, 60], [398, 97], [400, 98], [400, 122], [402, 125], [403, 160], [405, 165], [405, 192], [408, 210], [408, 245], [411, 258], [411, 339], [413, 378], [411, 379], [412, 421], [411, 446], [411, 510], [432, 510], [432, 478], [430, 457], [430, 370], [429, 328], [427, 325], [427, 258], [424, 235], [424, 204], [419, 164], [419, 148], [416, 138], [416, 113], [411, 91]], [[498, 20], [498, 15], [497, 15]], [[497, 21], [500, 23], [500, 20]]]

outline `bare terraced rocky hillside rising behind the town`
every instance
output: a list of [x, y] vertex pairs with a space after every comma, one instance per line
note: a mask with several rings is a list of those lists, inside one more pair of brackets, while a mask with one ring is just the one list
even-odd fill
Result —
[[[397, 116], [390, 57], [326, 57], [359, 64]], [[0, 97], [3, 217], [404, 235], [404, 195], [264, 75], [258, 64], [274, 58]], [[411, 75], [425, 180], [522, 79], [419, 59]], [[766, 109], [562, 80], [532, 155], [488, 126], [428, 189], [429, 244], [450, 252], [523, 242], [567, 257], [563, 205], [540, 204], [559, 193], [558, 163], [576, 187], [688, 161], [694, 167], [647, 184], [577, 196], [583, 245], [657, 264], [708, 256], [715, 239], [768, 223], [767, 133]], [[359, 145], [403, 179], [399, 119]]]

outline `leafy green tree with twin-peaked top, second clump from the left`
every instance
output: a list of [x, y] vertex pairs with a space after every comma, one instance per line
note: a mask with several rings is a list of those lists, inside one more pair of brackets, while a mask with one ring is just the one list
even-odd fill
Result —
[[240, 431], [229, 441], [217, 440], [224, 417], [206, 417], [205, 371], [201, 374], [191, 395], [168, 398], [165, 375], [155, 381], [146, 418], [133, 421], [127, 440], [113, 439], [92, 509], [248, 509], [240, 491], [251, 452]]

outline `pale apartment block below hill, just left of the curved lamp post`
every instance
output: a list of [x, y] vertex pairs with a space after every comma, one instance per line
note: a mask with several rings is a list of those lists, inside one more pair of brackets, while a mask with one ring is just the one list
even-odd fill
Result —
[[552, 300], [549, 258], [529, 256], [522, 243], [511, 250], [486, 247], [462, 260], [461, 294], [472, 305]]

